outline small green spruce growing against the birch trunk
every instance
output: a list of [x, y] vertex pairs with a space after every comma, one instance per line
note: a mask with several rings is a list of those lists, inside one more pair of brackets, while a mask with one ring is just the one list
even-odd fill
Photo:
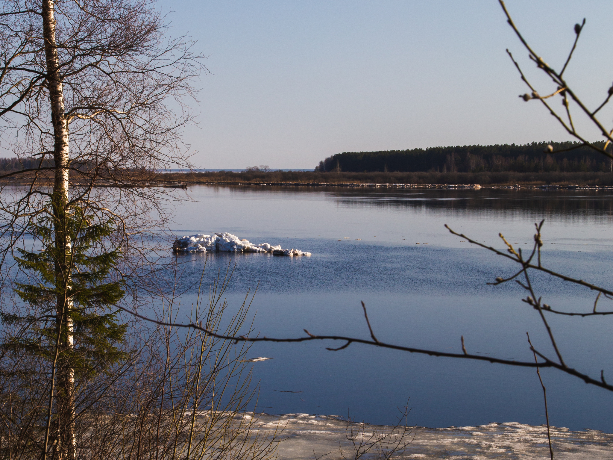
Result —
[[[60, 225], [70, 242], [64, 248], [56, 244]], [[25, 361], [37, 356], [51, 363], [46, 369], [39, 368], [47, 372], [51, 389], [47, 416], [39, 417], [37, 431], [42, 428], [45, 446], [53, 446], [54, 458], [75, 458], [76, 386], [79, 382], [86, 385], [89, 378], [109, 372], [113, 364], [127, 358], [120, 348], [127, 325], [118, 324], [118, 312], [112, 311], [124, 296], [121, 278], [111, 279], [121, 251], [105, 249], [115, 231], [113, 221], [96, 221], [78, 207], [71, 207], [61, 223], [48, 213], [32, 223], [29, 231], [42, 250], [21, 248], [15, 258], [20, 269], [34, 279], [16, 283], [15, 288], [30, 307], [29, 314], [1, 313], [3, 323], [28, 327], [10, 337], [4, 347], [20, 353]], [[38, 377], [41, 382], [47, 378]]]

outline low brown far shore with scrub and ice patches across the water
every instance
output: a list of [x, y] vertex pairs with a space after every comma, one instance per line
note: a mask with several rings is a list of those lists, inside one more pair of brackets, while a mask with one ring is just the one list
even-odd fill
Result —
[[[46, 172], [46, 171], [45, 171]], [[39, 183], [52, 183], [49, 173], [36, 175]], [[88, 186], [88, 172], [71, 180], [74, 186]], [[1, 185], [29, 185], [34, 173], [4, 178]], [[153, 172], [113, 171], [96, 178], [97, 187], [186, 188], [190, 185], [232, 186], [303, 186], [355, 188], [541, 188], [541, 189], [610, 189], [613, 172], [317, 172], [317, 171], [215, 171]]]

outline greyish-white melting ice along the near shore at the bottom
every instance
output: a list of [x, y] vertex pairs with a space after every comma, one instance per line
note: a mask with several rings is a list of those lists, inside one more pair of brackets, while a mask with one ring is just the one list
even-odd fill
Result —
[[[249, 415], [247, 415], [249, 414]], [[284, 441], [278, 453], [283, 460], [313, 459], [330, 452], [322, 460], [340, 458], [339, 444], [351, 456], [352, 445], [346, 438], [346, 421], [333, 415], [288, 413], [283, 415], [246, 413], [253, 428], [265, 435], [283, 429]], [[364, 435], [373, 430], [389, 432], [392, 427], [354, 424], [364, 427]], [[415, 427], [415, 438], [398, 459], [546, 459], [549, 458], [547, 427], [517, 422], [488, 423], [479, 426], [448, 428]], [[411, 437], [413, 437], [411, 434]], [[554, 456], [557, 460], [603, 460], [613, 458], [613, 434], [588, 430], [570, 431], [551, 427]], [[410, 438], [409, 438], [410, 439]]]

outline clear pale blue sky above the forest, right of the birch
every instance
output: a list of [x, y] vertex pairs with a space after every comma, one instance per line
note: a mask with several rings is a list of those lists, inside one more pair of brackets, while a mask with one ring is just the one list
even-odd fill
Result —
[[[506, 6], [536, 52], [588, 107], [611, 86], [613, 2]], [[495, 0], [161, 0], [173, 36], [188, 34], [210, 73], [194, 81], [198, 126], [185, 131], [196, 167], [313, 168], [343, 151], [526, 144], [570, 136], [538, 101], [524, 102], [518, 59], [541, 94], [555, 90]], [[552, 99], [562, 107], [561, 99]], [[613, 109], [600, 112], [611, 128]], [[601, 139], [586, 120], [576, 126]]]

